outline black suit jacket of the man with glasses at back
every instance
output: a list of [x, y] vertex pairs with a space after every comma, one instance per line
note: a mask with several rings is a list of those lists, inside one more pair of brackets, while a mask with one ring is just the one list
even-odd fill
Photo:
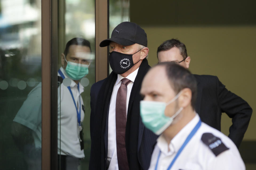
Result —
[[221, 130], [221, 114], [225, 112], [232, 118], [229, 138], [237, 147], [242, 142], [249, 125], [252, 109], [241, 97], [228, 91], [218, 77], [196, 75], [197, 101], [196, 112], [201, 120], [211, 127]]

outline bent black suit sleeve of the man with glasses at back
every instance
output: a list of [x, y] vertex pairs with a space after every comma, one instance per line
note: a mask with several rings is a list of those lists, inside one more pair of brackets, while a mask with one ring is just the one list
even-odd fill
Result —
[[229, 138], [239, 147], [253, 110], [245, 100], [227, 90], [218, 77], [216, 77], [216, 82], [221, 111], [232, 118], [233, 124], [229, 128]]

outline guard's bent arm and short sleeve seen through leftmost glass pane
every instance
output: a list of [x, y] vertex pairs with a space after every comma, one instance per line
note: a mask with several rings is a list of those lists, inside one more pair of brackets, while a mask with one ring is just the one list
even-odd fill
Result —
[[[21, 88], [20, 88], [21, 89]], [[23, 90], [23, 89], [22, 89]], [[25, 156], [28, 169], [41, 169], [42, 83], [27, 95], [13, 119], [11, 134]]]

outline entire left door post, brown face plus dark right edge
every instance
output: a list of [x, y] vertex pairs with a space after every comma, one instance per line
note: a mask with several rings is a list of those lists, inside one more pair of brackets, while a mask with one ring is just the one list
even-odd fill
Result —
[[42, 170], [58, 161], [58, 1], [42, 0]]

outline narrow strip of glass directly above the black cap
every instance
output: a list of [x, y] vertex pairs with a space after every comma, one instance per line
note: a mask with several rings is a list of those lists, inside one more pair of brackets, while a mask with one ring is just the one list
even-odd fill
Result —
[[[109, 0], [109, 36], [118, 24], [125, 21], [130, 21], [130, 0]], [[111, 72], [109, 66], [109, 74]]]

